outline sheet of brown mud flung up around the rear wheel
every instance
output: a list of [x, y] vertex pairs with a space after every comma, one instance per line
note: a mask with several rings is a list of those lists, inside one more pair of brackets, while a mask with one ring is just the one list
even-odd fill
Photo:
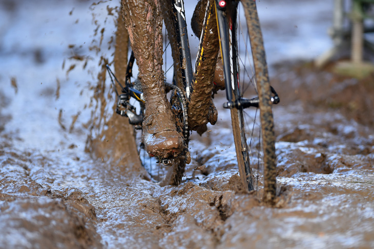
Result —
[[[118, 15], [116, 24], [118, 29], [116, 32], [113, 64], [118, 80], [124, 82], [126, 78], [129, 35], [126, 27], [124, 27], [123, 17], [121, 15]], [[115, 165], [123, 165], [131, 162], [134, 165], [134, 169], [139, 170], [141, 163], [138, 152], [136, 147], [131, 146], [132, 144], [136, 144], [134, 128], [129, 124], [127, 117], [108, 115], [108, 110], [106, 110], [106, 106], [109, 104], [108, 101], [110, 101], [112, 97], [110, 96], [108, 99], [106, 95], [105, 80], [107, 63], [108, 61], [103, 59], [101, 72], [99, 72], [97, 76], [98, 82], [94, 90], [93, 98], [91, 99], [91, 102], [95, 103], [95, 107], [91, 112], [90, 134], [86, 142], [86, 152], [89, 152], [91, 156], [97, 159], [111, 162]], [[119, 85], [110, 85], [110, 87], [111, 89], [116, 87], [117, 92], [121, 93]], [[115, 101], [112, 102], [110, 108], [113, 113], [116, 106]], [[126, 138], [126, 140], [123, 138]], [[111, 156], [108, 156], [109, 154]]]

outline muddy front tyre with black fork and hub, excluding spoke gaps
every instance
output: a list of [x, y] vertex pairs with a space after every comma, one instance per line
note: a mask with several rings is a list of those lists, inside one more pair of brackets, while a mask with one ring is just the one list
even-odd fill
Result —
[[[256, 2], [252, 0], [240, 1], [243, 5], [248, 34], [251, 40], [251, 50], [255, 67], [257, 97], [246, 99], [242, 96], [239, 83], [239, 48], [237, 42], [237, 8], [238, 1], [226, 2], [215, 0], [218, 33], [220, 37], [220, 51], [223, 61], [223, 73], [226, 86], [227, 102], [224, 108], [231, 109], [234, 142], [236, 147], [239, 173], [244, 186], [248, 190], [253, 188], [253, 172], [248, 154], [245, 120], [243, 110], [248, 107], [260, 109], [262, 137], [262, 153], [264, 163], [264, 200], [273, 203], [276, 190], [275, 170], [275, 136], [272, 104], [279, 103], [279, 96], [269, 85], [265, 51], [263, 49], [262, 33], [257, 15]], [[230, 3], [230, 4], [228, 4]], [[257, 112], [256, 112], [257, 113]], [[252, 140], [252, 139], [251, 139]]]

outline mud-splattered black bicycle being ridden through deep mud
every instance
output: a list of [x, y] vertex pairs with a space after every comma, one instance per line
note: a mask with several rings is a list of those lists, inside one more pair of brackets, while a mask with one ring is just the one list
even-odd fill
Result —
[[[172, 158], [157, 159], [157, 163], [172, 166], [168, 173], [163, 176], [164, 182], [179, 184], [185, 164], [189, 164], [191, 161], [188, 150], [190, 131], [201, 127], [201, 125], [199, 126], [201, 122], [197, 121], [201, 117], [207, 117], [205, 123], [214, 124], [217, 121], [217, 114], [214, 110], [211, 110], [211, 103], [206, 96], [210, 97], [213, 92], [212, 80], [209, 79], [213, 79], [212, 75], [215, 73], [218, 51], [220, 51], [227, 99], [223, 107], [231, 110], [241, 182], [248, 191], [254, 190], [255, 177], [251, 169], [250, 158], [257, 156], [257, 159], [253, 160], [253, 162], [257, 161], [257, 168], [260, 164], [264, 166], [264, 201], [273, 203], [276, 192], [276, 157], [271, 106], [279, 103], [279, 97], [275, 89], [269, 85], [256, 2], [253, 0], [206, 0], [204, 4], [205, 2], [205, 16], [201, 25], [201, 36], [194, 71], [183, 1], [173, 0], [172, 2], [170, 0], [170, 6], [163, 7], [164, 22], [169, 34], [174, 65], [173, 83], [165, 82], [165, 87], [172, 90], [170, 104], [177, 120], [178, 132], [184, 138], [184, 151]], [[202, 4], [202, 2], [199, 3]], [[240, 17], [237, 18], [239, 3], [245, 14], [248, 29], [246, 38], [243, 35]], [[238, 43], [240, 35], [245, 40], [244, 46]], [[247, 49], [248, 36], [255, 71], [254, 74], [252, 69], [252, 76], [246, 69], [246, 59], [251, 57]], [[214, 46], [215, 42], [219, 44], [219, 47]], [[242, 60], [242, 49], [244, 51], [244, 62]], [[135, 129], [141, 129], [144, 117], [144, 99], [142, 98], [140, 82], [138, 80], [131, 81], [135, 59], [134, 54], [131, 53], [124, 85], [117, 80], [109, 65], [107, 65], [107, 70], [112, 83], [115, 84], [115, 80], [121, 87], [122, 94], [118, 94], [116, 90], [117, 114], [128, 117], [130, 124], [134, 125]], [[243, 70], [241, 70], [241, 67], [243, 67]], [[248, 79], [246, 80], [246, 78]], [[255, 96], [244, 97], [244, 90], [248, 87], [247, 85], [252, 85], [254, 89], [252, 94], [255, 94]], [[210, 91], [206, 89], [210, 89]], [[130, 104], [131, 98], [140, 103], [140, 112], [137, 112], [136, 107]], [[251, 138], [248, 146], [244, 109], [249, 107], [255, 107], [256, 110], [252, 129], [250, 129]], [[260, 109], [260, 123], [256, 121], [258, 109]], [[200, 115], [201, 113], [207, 115]], [[259, 141], [255, 143], [253, 141], [257, 129], [259, 129]], [[261, 139], [262, 142], [260, 142]]]

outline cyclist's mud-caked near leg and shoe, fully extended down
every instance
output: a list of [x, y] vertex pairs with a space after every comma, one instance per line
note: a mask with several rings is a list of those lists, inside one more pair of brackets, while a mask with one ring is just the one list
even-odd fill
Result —
[[121, 0], [121, 5], [146, 100], [143, 143], [151, 156], [167, 158], [179, 154], [183, 139], [176, 130], [163, 83], [160, 0]]

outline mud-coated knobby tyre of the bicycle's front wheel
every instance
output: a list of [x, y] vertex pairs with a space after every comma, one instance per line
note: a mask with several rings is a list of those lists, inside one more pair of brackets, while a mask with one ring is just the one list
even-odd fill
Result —
[[[256, 2], [254, 0], [241, 0], [248, 33], [251, 41], [251, 50], [255, 67], [257, 92], [259, 98], [261, 137], [262, 137], [262, 154], [264, 165], [264, 196], [263, 200], [273, 204], [276, 194], [276, 155], [275, 155], [275, 134], [274, 120], [272, 113], [271, 88], [267, 71], [267, 63], [265, 59], [265, 50], [263, 46], [262, 32], [257, 14]], [[235, 98], [239, 98], [237, 91], [234, 90]], [[248, 146], [245, 137], [245, 124], [243, 123], [243, 110], [232, 109], [232, 125], [234, 133], [235, 148], [237, 153], [238, 165], [241, 170], [239, 173], [242, 182], [246, 182], [247, 186], [252, 185], [253, 174], [249, 168], [246, 172], [244, 169], [249, 165], [250, 158], [248, 156]], [[243, 174], [244, 173], [244, 174]], [[252, 190], [248, 187], [249, 190]]]

